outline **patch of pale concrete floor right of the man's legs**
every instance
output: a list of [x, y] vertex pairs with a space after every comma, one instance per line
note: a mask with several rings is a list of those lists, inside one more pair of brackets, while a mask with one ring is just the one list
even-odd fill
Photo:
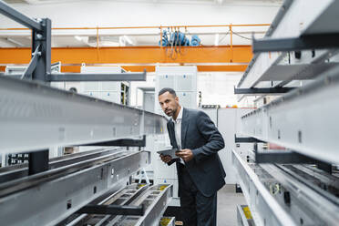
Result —
[[218, 226], [237, 226], [237, 205], [246, 204], [242, 193], [235, 193], [235, 185], [225, 185], [218, 191]]

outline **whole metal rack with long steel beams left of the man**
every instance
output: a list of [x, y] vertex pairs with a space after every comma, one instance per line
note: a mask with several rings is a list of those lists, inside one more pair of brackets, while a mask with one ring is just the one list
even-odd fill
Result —
[[[0, 218], [5, 225], [55, 225], [107, 192], [126, 187], [131, 175], [149, 164], [150, 153], [107, 148], [49, 160], [49, 147], [140, 149], [146, 145], [146, 135], [166, 132], [167, 120], [137, 108], [49, 87], [51, 81], [146, 80], [146, 72], [53, 74], [51, 21], [31, 19], [3, 1], [0, 13], [32, 29], [32, 59], [24, 74], [0, 76], [0, 154], [29, 153], [28, 164], [0, 170]], [[167, 187], [159, 192], [159, 198], [146, 197], [155, 199], [149, 201], [149, 209], [142, 212], [137, 225], [159, 224], [159, 214], [172, 197], [171, 187]], [[107, 208], [118, 208], [119, 213], [126, 209]], [[140, 211], [139, 207], [128, 208]], [[98, 213], [103, 210], [102, 206], [95, 209]]]

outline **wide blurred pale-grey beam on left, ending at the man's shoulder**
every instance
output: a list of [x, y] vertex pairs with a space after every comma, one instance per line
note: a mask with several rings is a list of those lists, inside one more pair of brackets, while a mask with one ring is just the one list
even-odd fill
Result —
[[160, 115], [11, 77], [0, 77], [0, 103], [0, 152], [166, 132]]

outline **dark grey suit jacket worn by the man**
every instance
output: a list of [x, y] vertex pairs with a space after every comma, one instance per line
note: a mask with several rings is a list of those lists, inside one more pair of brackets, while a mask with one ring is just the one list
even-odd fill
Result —
[[[178, 148], [175, 139], [174, 123], [170, 120], [167, 124], [170, 135], [170, 144]], [[225, 144], [221, 133], [215, 127], [211, 118], [203, 111], [183, 108], [181, 120], [181, 149], [191, 149], [194, 158], [185, 162], [190, 177], [200, 192], [210, 197], [225, 184], [225, 170], [223, 170], [218, 151]], [[177, 163], [178, 178], [181, 177], [179, 159]], [[180, 184], [179, 184], [180, 186]]]

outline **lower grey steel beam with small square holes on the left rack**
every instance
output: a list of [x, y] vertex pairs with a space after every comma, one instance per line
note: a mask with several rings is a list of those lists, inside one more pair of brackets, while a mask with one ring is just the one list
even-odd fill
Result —
[[4, 225], [55, 225], [108, 190], [125, 187], [148, 163], [149, 152], [134, 152], [6, 195], [0, 198], [0, 219]]

